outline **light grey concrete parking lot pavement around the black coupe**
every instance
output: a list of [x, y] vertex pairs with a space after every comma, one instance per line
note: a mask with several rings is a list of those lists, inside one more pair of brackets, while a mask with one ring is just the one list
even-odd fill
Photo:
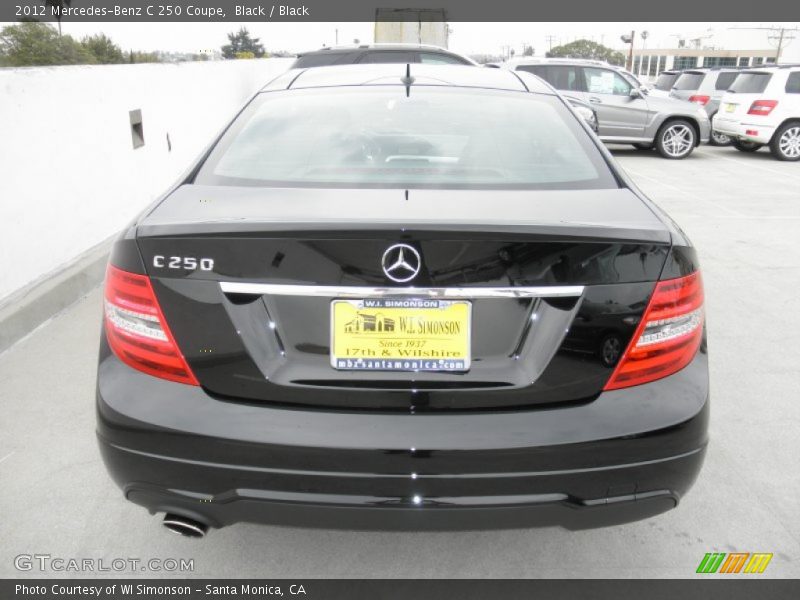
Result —
[[683, 161], [614, 152], [703, 265], [711, 445], [676, 510], [584, 532], [237, 525], [205, 540], [171, 535], [122, 499], [95, 446], [96, 290], [0, 355], [0, 577], [42, 576], [18, 572], [19, 554], [188, 558], [199, 577], [690, 577], [712, 551], [772, 552], [762, 577], [800, 576], [800, 165], [729, 148]]

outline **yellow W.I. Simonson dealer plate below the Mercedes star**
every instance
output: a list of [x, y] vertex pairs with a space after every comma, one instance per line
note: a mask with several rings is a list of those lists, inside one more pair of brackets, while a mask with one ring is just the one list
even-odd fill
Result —
[[380, 298], [331, 302], [331, 366], [358, 371], [466, 371], [472, 304]]

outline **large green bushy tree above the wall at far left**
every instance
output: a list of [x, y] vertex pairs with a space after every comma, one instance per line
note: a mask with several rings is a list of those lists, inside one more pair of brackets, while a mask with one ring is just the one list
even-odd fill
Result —
[[0, 31], [0, 57], [10, 67], [93, 64], [94, 55], [46, 23], [25, 21]]

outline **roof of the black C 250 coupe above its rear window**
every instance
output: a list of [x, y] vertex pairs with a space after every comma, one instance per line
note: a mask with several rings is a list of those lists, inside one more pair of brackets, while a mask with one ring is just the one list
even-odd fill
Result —
[[507, 69], [479, 69], [470, 65], [370, 64], [335, 65], [291, 69], [273, 79], [262, 92], [341, 86], [411, 85], [471, 87], [554, 95], [553, 89], [537, 77], [520, 77]]

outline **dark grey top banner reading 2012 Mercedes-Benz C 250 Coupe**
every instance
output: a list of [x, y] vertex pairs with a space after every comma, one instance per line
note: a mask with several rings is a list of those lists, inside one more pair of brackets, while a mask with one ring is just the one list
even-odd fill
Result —
[[0, 22], [796, 21], [790, 0], [0, 0]]

